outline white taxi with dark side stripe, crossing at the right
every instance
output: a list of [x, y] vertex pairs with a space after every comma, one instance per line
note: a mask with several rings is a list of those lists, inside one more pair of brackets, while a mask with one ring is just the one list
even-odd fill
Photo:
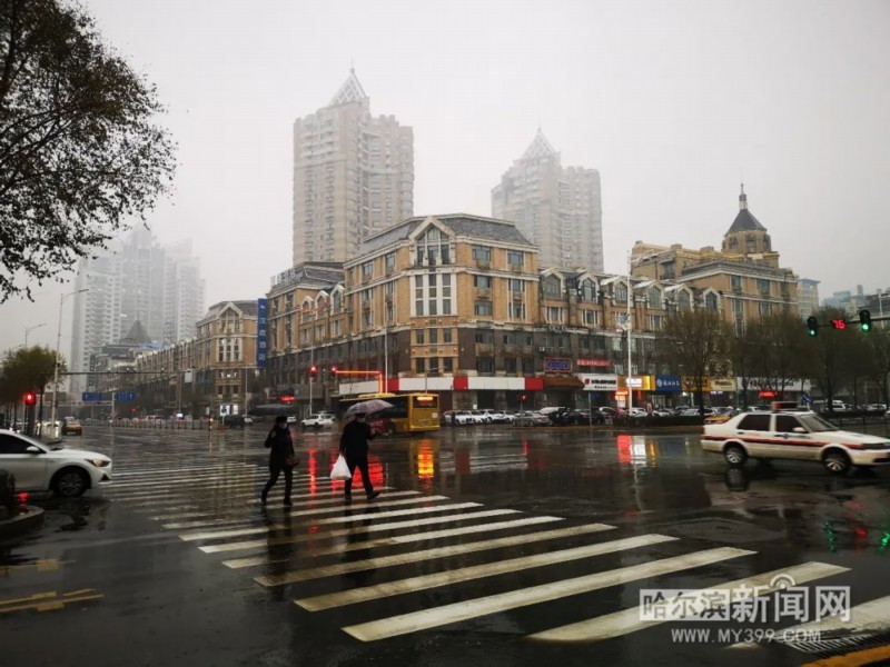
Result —
[[742, 412], [705, 424], [702, 449], [722, 454], [731, 466], [748, 458], [821, 461], [835, 475], [851, 466], [890, 464], [890, 440], [838, 430], [815, 412]]

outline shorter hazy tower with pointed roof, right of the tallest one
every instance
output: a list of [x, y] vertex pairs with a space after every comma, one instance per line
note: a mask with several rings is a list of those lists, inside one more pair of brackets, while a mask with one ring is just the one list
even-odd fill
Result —
[[541, 130], [492, 189], [492, 216], [516, 222], [541, 266], [603, 270], [600, 172], [563, 167]]

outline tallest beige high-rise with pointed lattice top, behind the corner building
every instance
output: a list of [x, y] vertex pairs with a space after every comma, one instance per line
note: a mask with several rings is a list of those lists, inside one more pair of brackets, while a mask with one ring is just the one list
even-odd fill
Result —
[[414, 133], [372, 117], [355, 76], [294, 123], [294, 266], [344, 261], [362, 239], [414, 213]]

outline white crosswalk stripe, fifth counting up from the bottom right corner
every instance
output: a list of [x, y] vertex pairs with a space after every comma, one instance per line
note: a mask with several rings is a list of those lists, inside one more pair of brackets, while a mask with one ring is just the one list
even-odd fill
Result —
[[411, 565], [414, 563], [421, 563], [423, 560], [432, 560], [434, 558], [462, 556], [464, 554], [475, 554], [477, 551], [500, 549], [501, 547], [515, 547], [518, 545], [546, 541], [563, 537], [573, 537], [576, 535], [583, 535], [585, 532], [600, 532], [611, 529], [612, 526], [604, 526], [603, 524], [556, 528], [555, 530], [544, 530], [542, 532], [500, 537], [495, 539], [466, 542], [463, 545], [452, 545], [448, 547], [435, 547], [433, 549], [424, 549], [422, 551], [413, 551], [409, 554], [394, 554], [393, 556], [380, 556], [379, 558], [365, 558], [363, 560], [355, 560], [352, 563], [338, 563], [336, 565], [290, 570], [288, 573], [281, 573], [278, 575], [265, 575], [261, 577], [254, 577], [254, 581], [261, 584], [263, 586], [285, 586], [287, 584], [307, 581], [309, 579], [320, 579], [324, 577], [333, 577], [335, 575], [359, 573], [366, 569], [392, 567], [396, 565]]

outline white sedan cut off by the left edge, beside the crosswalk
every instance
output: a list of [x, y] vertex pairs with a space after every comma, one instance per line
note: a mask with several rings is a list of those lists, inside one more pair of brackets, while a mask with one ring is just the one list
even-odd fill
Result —
[[73, 498], [111, 481], [111, 459], [103, 454], [47, 445], [0, 430], [0, 470], [16, 477], [19, 491], [55, 491]]

